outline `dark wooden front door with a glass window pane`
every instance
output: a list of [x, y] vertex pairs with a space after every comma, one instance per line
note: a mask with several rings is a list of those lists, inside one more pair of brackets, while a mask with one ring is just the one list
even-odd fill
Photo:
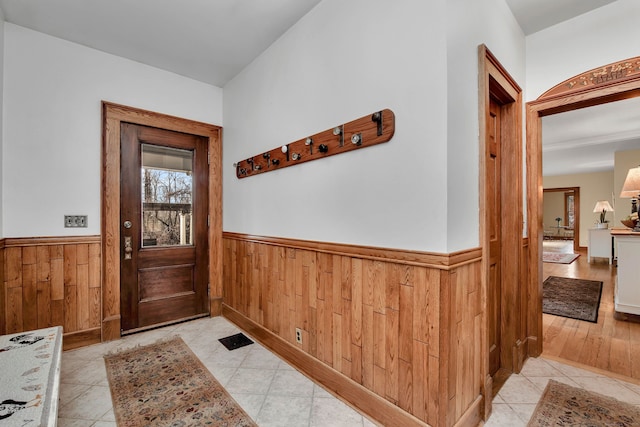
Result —
[[208, 314], [206, 138], [122, 123], [122, 333]]

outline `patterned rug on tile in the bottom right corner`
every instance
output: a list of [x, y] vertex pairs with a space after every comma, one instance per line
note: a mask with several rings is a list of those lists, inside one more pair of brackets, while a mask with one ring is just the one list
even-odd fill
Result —
[[549, 380], [529, 427], [640, 425], [640, 408], [612, 397]]

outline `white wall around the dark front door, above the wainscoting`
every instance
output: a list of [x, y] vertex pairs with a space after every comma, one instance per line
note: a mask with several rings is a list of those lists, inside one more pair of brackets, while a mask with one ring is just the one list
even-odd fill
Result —
[[4, 37], [3, 237], [100, 234], [102, 100], [222, 124], [220, 88], [9, 23]]

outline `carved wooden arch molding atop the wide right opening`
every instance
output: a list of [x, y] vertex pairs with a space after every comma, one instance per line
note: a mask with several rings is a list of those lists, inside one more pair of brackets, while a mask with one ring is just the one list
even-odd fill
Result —
[[594, 68], [571, 77], [538, 97], [538, 101], [617, 85], [640, 76], [640, 56]]

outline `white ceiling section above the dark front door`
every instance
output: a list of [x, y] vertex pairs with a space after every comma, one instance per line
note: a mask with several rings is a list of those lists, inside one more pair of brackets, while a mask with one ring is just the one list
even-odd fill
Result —
[[5, 20], [222, 87], [320, 0], [1, 0]]

